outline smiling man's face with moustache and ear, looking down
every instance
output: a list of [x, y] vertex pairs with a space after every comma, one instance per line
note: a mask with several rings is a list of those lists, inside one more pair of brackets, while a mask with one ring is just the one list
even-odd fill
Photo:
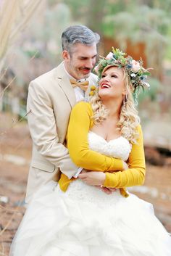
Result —
[[67, 72], [76, 80], [88, 78], [93, 66], [96, 63], [96, 44], [87, 46], [86, 44], [75, 44], [72, 46], [71, 54], [63, 51], [64, 66]]

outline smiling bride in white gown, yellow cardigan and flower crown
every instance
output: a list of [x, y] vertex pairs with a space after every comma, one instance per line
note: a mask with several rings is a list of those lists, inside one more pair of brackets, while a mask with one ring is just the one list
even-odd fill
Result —
[[[119, 49], [101, 58], [96, 71], [99, 88], [92, 86], [90, 103], [75, 105], [67, 133], [70, 157], [87, 170], [71, 180], [62, 174], [59, 183], [36, 192], [10, 256], [171, 256], [171, 237], [151, 204], [126, 189], [142, 185], [145, 176], [133, 94], [149, 86], [149, 72]], [[98, 170], [100, 154], [122, 159], [128, 168]]]

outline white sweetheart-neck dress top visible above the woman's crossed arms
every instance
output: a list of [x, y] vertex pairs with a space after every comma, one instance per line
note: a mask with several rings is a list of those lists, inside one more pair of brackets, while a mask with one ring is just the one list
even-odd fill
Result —
[[120, 136], [117, 139], [106, 141], [93, 131], [89, 131], [88, 133], [88, 144], [93, 151], [109, 157], [120, 158], [123, 161], [128, 160], [131, 150], [131, 144], [124, 137]]

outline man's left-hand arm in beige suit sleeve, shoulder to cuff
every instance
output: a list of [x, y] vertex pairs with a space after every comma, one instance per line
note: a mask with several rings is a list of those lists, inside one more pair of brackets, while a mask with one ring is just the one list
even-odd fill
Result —
[[59, 143], [51, 100], [35, 81], [29, 86], [27, 110], [30, 134], [38, 152], [71, 178], [78, 167], [70, 159], [67, 148]]

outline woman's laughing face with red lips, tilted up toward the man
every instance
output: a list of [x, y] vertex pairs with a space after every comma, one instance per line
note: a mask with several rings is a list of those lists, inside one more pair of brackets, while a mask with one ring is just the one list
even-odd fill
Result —
[[99, 96], [101, 99], [123, 99], [125, 95], [125, 79], [122, 68], [109, 67], [101, 75]]

